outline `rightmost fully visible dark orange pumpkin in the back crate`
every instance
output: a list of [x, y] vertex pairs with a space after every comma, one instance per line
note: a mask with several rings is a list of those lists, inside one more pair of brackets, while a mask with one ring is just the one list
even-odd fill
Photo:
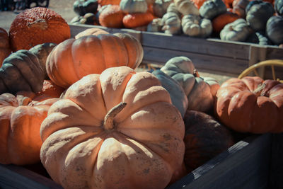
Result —
[[226, 24], [236, 21], [240, 16], [238, 14], [226, 11], [212, 19], [212, 28], [214, 32], [219, 33]]

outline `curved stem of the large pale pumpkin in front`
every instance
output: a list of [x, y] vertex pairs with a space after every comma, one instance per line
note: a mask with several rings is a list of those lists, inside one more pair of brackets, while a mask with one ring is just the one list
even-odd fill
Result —
[[120, 113], [125, 107], [127, 103], [119, 103], [118, 105], [115, 105], [109, 112], [105, 115], [103, 127], [105, 130], [112, 130], [114, 128], [114, 118], [115, 116]]

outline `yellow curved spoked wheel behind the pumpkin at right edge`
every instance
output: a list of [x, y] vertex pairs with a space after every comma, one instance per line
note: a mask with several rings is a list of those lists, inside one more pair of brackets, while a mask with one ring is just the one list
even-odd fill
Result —
[[260, 76], [258, 74], [257, 69], [262, 68], [262, 67], [271, 67], [272, 71], [272, 79], [278, 80], [283, 83], [283, 78], [279, 79], [277, 78], [275, 74], [275, 67], [283, 67], [283, 59], [268, 59], [262, 62], [258, 62], [257, 64], [253, 64], [253, 66], [248, 67], [245, 69], [239, 76], [238, 79], [242, 79], [244, 76], [248, 76], [250, 73], [254, 73], [255, 76]]

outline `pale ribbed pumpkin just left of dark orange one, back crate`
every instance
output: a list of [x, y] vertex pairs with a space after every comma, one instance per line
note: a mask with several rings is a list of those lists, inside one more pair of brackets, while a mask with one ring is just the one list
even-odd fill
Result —
[[212, 33], [212, 22], [198, 15], [185, 15], [181, 23], [183, 33], [190, 37], [207, 38]]

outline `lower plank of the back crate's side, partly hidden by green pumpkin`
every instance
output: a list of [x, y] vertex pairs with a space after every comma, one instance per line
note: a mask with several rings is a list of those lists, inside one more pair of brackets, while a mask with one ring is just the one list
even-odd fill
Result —
[[195, 67], [200, 71], [209, 71], [212, 74], [222, 74], [238, 77], [239, 74], [248, 68], [248, 62], [241, 59], [227, 57], [214, 57], [192, 52], [181, 52], [175, 50], [164, 50], [144, 46], [143, 62], [147, 64], [165, 64], [169, 59], [178, 56], [185, 56], [192, 60]]

